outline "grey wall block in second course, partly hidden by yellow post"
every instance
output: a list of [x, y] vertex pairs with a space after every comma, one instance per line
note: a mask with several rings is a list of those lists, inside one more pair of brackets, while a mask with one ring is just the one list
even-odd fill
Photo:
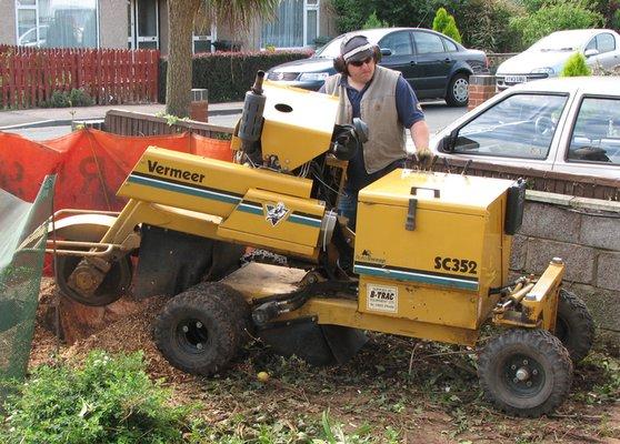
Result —
[[553, 258], [566, 263], [564, 280], [591, 284], [594, 281], [596, 250], [547, 240], [530, 240], [526, 271], [540, 274]]

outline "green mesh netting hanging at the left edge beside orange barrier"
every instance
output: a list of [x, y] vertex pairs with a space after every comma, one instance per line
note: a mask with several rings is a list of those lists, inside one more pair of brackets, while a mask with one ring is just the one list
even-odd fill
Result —
[[54, 181], [46, 178], [33, 203], [0, 189], [0, 400], [3, 382], [28, 367]]

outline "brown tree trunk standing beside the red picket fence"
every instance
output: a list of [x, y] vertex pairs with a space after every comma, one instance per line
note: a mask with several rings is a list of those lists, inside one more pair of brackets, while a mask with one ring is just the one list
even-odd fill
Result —
[[168, 0], [168, 72], [166, 112], [189, 115], [193, 18], [201, 0]]

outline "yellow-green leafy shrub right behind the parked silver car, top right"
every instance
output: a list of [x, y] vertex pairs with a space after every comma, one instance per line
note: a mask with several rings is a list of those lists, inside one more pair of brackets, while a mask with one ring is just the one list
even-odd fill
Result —
[[524, 49], [537, 40], [554, 31], [564, 29], [594, 28], [602, 22], [602, 16], [592, 12], [580, 2], [571, 0], [557, 0], [544, 3], [538, 11], [514, 17], [510, 27], [521, 33], [521, 47]]

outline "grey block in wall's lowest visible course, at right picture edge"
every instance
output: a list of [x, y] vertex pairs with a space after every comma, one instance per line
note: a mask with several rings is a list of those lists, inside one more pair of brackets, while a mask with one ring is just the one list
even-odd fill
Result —
[[599, 329], [620, 332], [620, 294], [590, 285], [564, 285], [586, 302]]

